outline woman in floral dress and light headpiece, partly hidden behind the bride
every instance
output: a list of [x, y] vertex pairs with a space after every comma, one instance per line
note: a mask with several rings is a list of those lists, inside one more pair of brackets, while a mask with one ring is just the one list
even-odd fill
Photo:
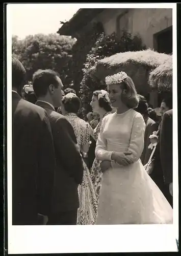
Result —
[[[93, 92], [92, 101], [91, 101], [90, 105], [92, 106], [92, 110], [94, 112], [97, 112], [100, 116], [99, 123], [96, 126], [96, 128], [94, 129], [94, 137], [97, 140], [99, 132], [100, 132], [100, 126], [102, 123], [102, 119], [105, 116], [107, 116], [108, 114], [110, 114], [110, 112], [112, 111], [108, 92], [105, 90]], [[94, 162], [92, 164], [92, 169], [91, 169], [91, 180], [92, 180], [95, 190], [96, 190], [97, 200], [98, 200], [98, 196], [99, 196], [101, 176], [102, 176], [102, 173], [100, 170], [100, 161], [95, 158]]]

